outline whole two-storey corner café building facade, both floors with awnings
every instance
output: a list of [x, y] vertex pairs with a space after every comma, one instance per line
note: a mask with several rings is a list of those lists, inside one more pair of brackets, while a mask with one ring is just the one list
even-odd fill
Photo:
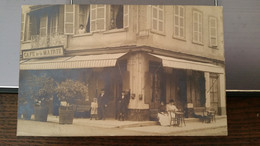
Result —
[[105, 89], [111, 118], [121, 91], [130, 120], [148, 120], [170, 99], [186, 117], [196, 107], [226, 115], [222, 8], [24, 6], [20, 70], [78, 71], [87, 101]]

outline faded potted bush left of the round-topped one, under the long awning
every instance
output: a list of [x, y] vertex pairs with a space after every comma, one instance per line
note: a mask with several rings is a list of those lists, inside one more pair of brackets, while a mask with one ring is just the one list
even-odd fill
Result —
[[46, 122], [48, 117], [48, 109], [50, 100], [55, 93], [55, 82], [53, 78], [41, 76], [34, 76], [33, 86], [33, 98], [35, 101], [34, 105], [34, 116], [36, 121]]

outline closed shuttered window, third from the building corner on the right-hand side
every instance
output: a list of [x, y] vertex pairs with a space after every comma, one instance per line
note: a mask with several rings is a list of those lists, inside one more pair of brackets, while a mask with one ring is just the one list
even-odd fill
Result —
[[202, 13], [200, 11], [193, 11], [193, 42], [203, 43], [202, 37]]

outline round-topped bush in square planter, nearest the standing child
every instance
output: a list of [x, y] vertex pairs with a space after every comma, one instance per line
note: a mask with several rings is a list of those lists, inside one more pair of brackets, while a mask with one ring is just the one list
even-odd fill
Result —
[[67, 79], [57, 85], [56, 92], [61, 101], [61, 106], [59, 108], [59, 123], [72, 124], [74, 117], [72, 105], [75, 104], [75, 101], [85, 98], [88, 87], [80, 81]]

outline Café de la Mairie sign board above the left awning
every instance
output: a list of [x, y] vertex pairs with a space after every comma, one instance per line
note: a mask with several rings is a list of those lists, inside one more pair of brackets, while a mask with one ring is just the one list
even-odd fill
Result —
[[57, 57], [57, 56], [63, 56], [63, 55], [64, 55], [64, 51], [63, 51], [62, 46], [23, 51], [23, 59]]

